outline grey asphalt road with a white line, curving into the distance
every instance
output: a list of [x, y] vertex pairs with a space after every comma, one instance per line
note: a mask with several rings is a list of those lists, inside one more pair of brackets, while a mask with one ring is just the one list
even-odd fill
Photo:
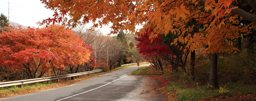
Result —
[[[149, 65], [140, 65], [144, 67]], [[76, 84], [48, 89], [22, 96], [2, 98], [0, 101], [159, 101], [161, 98], [142, 99], [132, 96], [142, 88], [146, 77], [128, 76], [137, 70], [131, 66]]]

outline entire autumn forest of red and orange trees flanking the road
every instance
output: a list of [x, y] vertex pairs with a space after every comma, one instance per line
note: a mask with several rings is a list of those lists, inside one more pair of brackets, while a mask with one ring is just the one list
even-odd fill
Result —
[[[40, 1], [55, 12], [44, 28], [1, 24], [1, 82], [140, 60], [168, 80], [170, 100], [256, 93], [255, 0]], [[94, 29], [110, 23], [117, 36]]]

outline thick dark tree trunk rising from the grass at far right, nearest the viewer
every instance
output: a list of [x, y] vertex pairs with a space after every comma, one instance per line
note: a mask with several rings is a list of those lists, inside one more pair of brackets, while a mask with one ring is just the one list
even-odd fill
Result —
[[218, 88], [218, 78], [217, 78], [217, 53], [212, 54], [211, 56], [211, 68], [210, 68], [210, 82], [209, 85], [212, 85], [214, 88]]

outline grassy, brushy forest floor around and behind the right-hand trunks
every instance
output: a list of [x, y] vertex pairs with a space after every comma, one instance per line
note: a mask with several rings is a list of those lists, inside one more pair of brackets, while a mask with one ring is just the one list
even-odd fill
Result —
[[[255, 51], [245, 49], [238, 54], [223, 54], [218, 57], [217, 75], [219, 87], [225, 89], [209, 89], [210, 60], [208, 56], [196, 53], [195, 80], [190, 77], [190, 57], [188, 57], [186, 72], [168, 70], [164, 74], [169, 81], [166, 92], [173, 101], [215, 100], [222, 97], [248, 96], [256, 97], [256, 59]], [[229, 92], [220, 91], [228, 90]], [[250, 94], [250, 95], [249, 95]]]

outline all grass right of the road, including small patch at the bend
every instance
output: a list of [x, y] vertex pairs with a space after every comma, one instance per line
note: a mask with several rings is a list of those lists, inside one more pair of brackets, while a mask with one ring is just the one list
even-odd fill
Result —
[[[156, 74], [160, 73], [154, 67], [142, 67], [132, 72], [132, 75]], [[239, 95], [251, 94], [256, 97], [255, 84], [245, 85], [243, 83], [219, 83], [219, 87], [225, 87], [223, 90], [229, 92], [220, 93], [220, 89], [209, 89], [208, 85], [201, 83], [200, 80], [191, 80], [187, 78], [186, 73], [165, 73], [165, 78], [169, 85], [165, 86], [165, 92], [169, 93], [171, 101], [197, 101], [197, 100], [214, 100], [220, 97], [236, 97]], [[222, 90], [222, 91], [223, 91]]]

